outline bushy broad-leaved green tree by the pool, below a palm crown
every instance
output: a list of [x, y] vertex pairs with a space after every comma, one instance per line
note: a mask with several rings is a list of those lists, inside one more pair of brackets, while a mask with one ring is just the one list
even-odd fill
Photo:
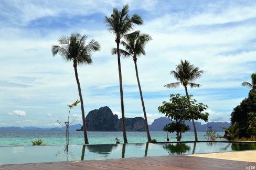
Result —
[[177, 132], [177, 141], [182, 138], [182, 133], [188, 131], [190, 128], [186, 126], [183, 120], [191, 121], [193, 119], [202, 119], [208, 121], [209, 114], [202, 111], [208, 108], [207, 105], [202, 103], [196, 104], [196, 99], [191, 99], [192, 95], [180, 96], [180, 94], [170, 95], [170, 102], [163, 102], [163, 106], [158, 107], [158, 111], [165, 114], [171, 120], [175, 122], [170, 123], [165, 129], [169, 132]]

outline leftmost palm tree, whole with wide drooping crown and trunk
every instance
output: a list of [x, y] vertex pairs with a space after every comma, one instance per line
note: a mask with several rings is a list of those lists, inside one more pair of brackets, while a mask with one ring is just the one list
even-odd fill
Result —
[[52, 55], [55, 56], [57, 53], [66, 60], [67, 62], [73, 61], [74, 74], [77, 80], [78, 93], [81, 101], [82, 110], [82, 121], [83, 121], [83, 134], [84, 143], [89, 144], [86, 131], [86, 118], [84, 116], [83, 98], [81, 93], [81, 86], [78, 79], [77, 65], [92, 64], [91, 55], [95, 51], [100, 50], [99, 42], [92, 39], [86, 45], [87, 35], [81, 36], [78, 32], [71, 33], [71, 36], [63, 36], [58, 41], [60, 46], [53, 45], [51, 48]]

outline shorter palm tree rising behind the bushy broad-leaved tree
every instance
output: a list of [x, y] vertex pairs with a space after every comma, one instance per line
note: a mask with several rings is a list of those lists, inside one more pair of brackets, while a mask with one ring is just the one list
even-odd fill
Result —
[[[176, 71], [170, 71], [170, 74], [173, 74], [174, 77], [179, 82], [166, 84], [164, 87], [177, 88], [181, 84], [185, 87], [186, 95], [188, 96], [188, 90], [187, 90], [188, 85], [191, 88], [201, 86], [200, 84], [193, 83], [190, 81], [194, 81], [197, 78], [201, 77], [202, 73], [204, 73], [204, 71], [202, 71], [202, 70], [199, 71], [199, 68], [195, 67], [193, 64], [190, 64], [189, 61], [185, 60], [185, 62], [183, 62], [182, 60], [180, 60], [180, 64], [177, 65]], [[192, 122], [193, 122], [193, 127], [194, 127], [195, 140], [198, 141], [194, 119], [192, 119]]]

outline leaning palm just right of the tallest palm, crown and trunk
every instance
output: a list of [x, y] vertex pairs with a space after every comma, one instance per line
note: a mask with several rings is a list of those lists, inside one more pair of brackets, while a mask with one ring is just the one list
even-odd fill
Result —
[[[145, 127], [146, 127], [146, 132], [147, 132], [147, 142], [151, 142], [151, 137], [150, 137], [150, 131], [148, 130], [148, 123], [147, 123], [147, 115], [146, 115], [146, 110], [145, 110], [145, 105], [144, 105], [144, 100], [142, 96], [142, 90], [141, 90], [141, 84], [140, 84], [140, 79], [138, 78], [138, 70], [137, 70], [137, 56], [140, 56], [141, 54], [145, 55], [145, 46], [146, 43], [150, 40], [152, 40], [151, 36], [143, 33], [140, 35], [140, 31], [135, 31], [129, 35], [124, 36], [125, 41], [121, 41], [121, 44], [124, 46], [125, 50], [120, 49], [120, 53], [124, 57], [133, 57], [134, 65], [135, 65], [135, 71], [136, 71], [136, 77], [137, 77], [137, 82], [138, 82], [138, 89], [140, 90], [140, 95], [141, 95], [141, 103], [142, 103], [142, 108], [143, 108], [143, 113], [144, 113], [144, 118], [145, 118]], [[116, 54], [116, 48], [112, 49], [112, 54]]]

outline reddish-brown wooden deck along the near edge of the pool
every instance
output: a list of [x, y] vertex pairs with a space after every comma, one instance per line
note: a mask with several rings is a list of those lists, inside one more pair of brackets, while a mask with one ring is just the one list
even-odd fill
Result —
[[[232, 152], [233, 153], [233, 152]], [[230, 152], [230, 154], [232, 155]], [[248, 156], [248, 155], [247, 155]], [[256, 159], [256, 158], [255, 158]], [[254, 169], [255, 162], [188, 155], [0, 165], [0, 169]]]

